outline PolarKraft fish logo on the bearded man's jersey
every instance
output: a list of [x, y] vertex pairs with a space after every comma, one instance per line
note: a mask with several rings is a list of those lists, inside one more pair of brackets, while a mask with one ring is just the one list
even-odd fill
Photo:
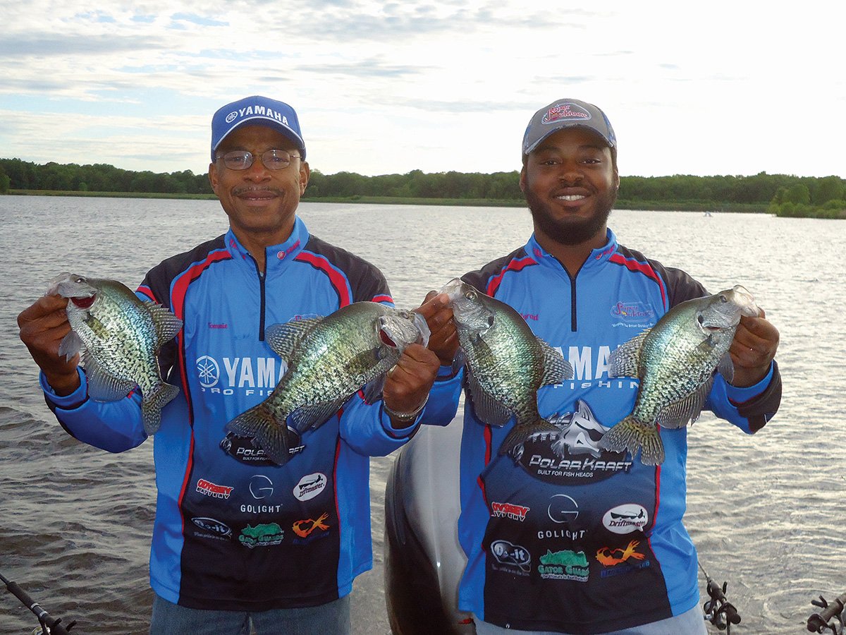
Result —
[[548, 421], [558, 428], [558, 434], [532, 434], [519, 459], [533, 477], [555, 485], [578, 485], [629, 472], [632, 462], [628, 456], [599, 447], [610, 428], [596, 420], [584, 400], [576, 401], [574, 412], [549, 417]]

